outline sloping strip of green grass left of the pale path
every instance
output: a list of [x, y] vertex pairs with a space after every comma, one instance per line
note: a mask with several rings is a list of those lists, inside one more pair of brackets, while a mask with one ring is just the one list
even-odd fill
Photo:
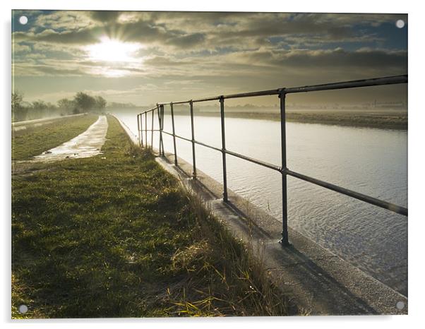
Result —
[[97, 120], [88, 114], [55, 120], [52, 124], [16, 131], [12, 136], [12, 160], [29, 160], [83, 133]]

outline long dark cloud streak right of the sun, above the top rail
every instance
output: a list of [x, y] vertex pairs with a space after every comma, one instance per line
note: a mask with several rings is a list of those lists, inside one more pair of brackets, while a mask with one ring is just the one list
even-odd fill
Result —
[[[348, 52], [344, 49], [333, 50], [263, 50], [256, 52], [236, 52], [228, 55], [195, 57], [175, 60], [169, 56], [154, 56], [144, 61], [145, 65], [169, 68], [189, 66], [200, 71], [203, 67], [210, 68], [218, 75], [225, 71], [258, 71], [282, 69], [311, 71], [314, 69], [327, 70], [366, 70], [376, 71], [407, 71], [407, 52], [385, 51], [379, 49], [364, 49]], [[240, 72], [239, 72], [240, 73]], [[213, 74], [213, 73], [212, 73]]]

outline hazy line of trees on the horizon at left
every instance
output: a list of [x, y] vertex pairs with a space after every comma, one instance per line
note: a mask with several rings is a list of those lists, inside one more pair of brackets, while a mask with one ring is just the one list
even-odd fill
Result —
[[12, 92], [12, 121], [40, 119], [47, 116], [80, 114], [85, 112], [103, 113], [107, 101], [102, 96], [90, 96], [77, 92], [68, 100], [64, 98], [52, 104], [43, 100], [24, 102], [21, 92]]

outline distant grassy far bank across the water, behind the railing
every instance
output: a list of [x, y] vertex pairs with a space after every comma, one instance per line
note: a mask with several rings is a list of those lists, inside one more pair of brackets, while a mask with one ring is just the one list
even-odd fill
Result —
[[[199, 115], [218, 116], [213, 112], [200, 112]], [[280, 121], [279, 113], [226, 112], [226, 117]], [[288, 122], [306, 124], [328, 124], [335, 126], [354, 126], [383, 129], [407, 130], [407, 112], [290, 112], [286, 113]]]

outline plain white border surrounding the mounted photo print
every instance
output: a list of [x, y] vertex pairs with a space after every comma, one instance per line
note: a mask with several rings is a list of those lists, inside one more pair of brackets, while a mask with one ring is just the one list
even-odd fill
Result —
[[[331, 316], [307, 318], [215, 318], [215, 319], [103, 319], [103, 320], [52, 320], [32, 321], [35, 328], [60, 323], [65, 328], [75, 328], [75, 324], [85, 324], [85, 327], [101, 325], [104, 328], [115, 328], [119, 323], [125, 323], [126, 328], [140, 328], [140, 326], [155, 326], [160, 328], [216, 328], [217, 326], [232, 328], [235, 325], [246, 327], [261, 325], [287, 328], [356, 328], [359, 326], [384, 326], [397, 328], [402, 326], [416, 327], [421, 321], [421, 306], [424, 305], [424, 277], [422, 253], [425, 234], [424, 216], [419, 206], [424, 203], [422, 185], [423, 179], [424, 146], [425, 140], [422, 131], [425, 129], [425, 109], [421, 107], [421, 98], [424, 95], [424, 27], [420, 1], [271, 1], [261, 0], [255, 3], [234, 2], [229, 0], [215, 1], [53, 1], [53, 0], [14, 0], [12, 4], [1, 1], [1, 64], [3, 76], [1, 78], [2, 107], [2, 143], [1, 155], [1, 209], [2, 238], [1, 247], [4, 261], [1, 274], [1, 320], [8, 327], [10, 318], [10, 95], [11, 95], [11, 9], [92, 9], [92, 10], [145, 10], [145, 11], [281, 11], [281, 12], [339, 12], [339, 13], [408, 13], [409, 14], [409, 316]], [[24, 323], [13, 323], [19, 328]], [[17, 327], [16, 327], [17, 326]]]

